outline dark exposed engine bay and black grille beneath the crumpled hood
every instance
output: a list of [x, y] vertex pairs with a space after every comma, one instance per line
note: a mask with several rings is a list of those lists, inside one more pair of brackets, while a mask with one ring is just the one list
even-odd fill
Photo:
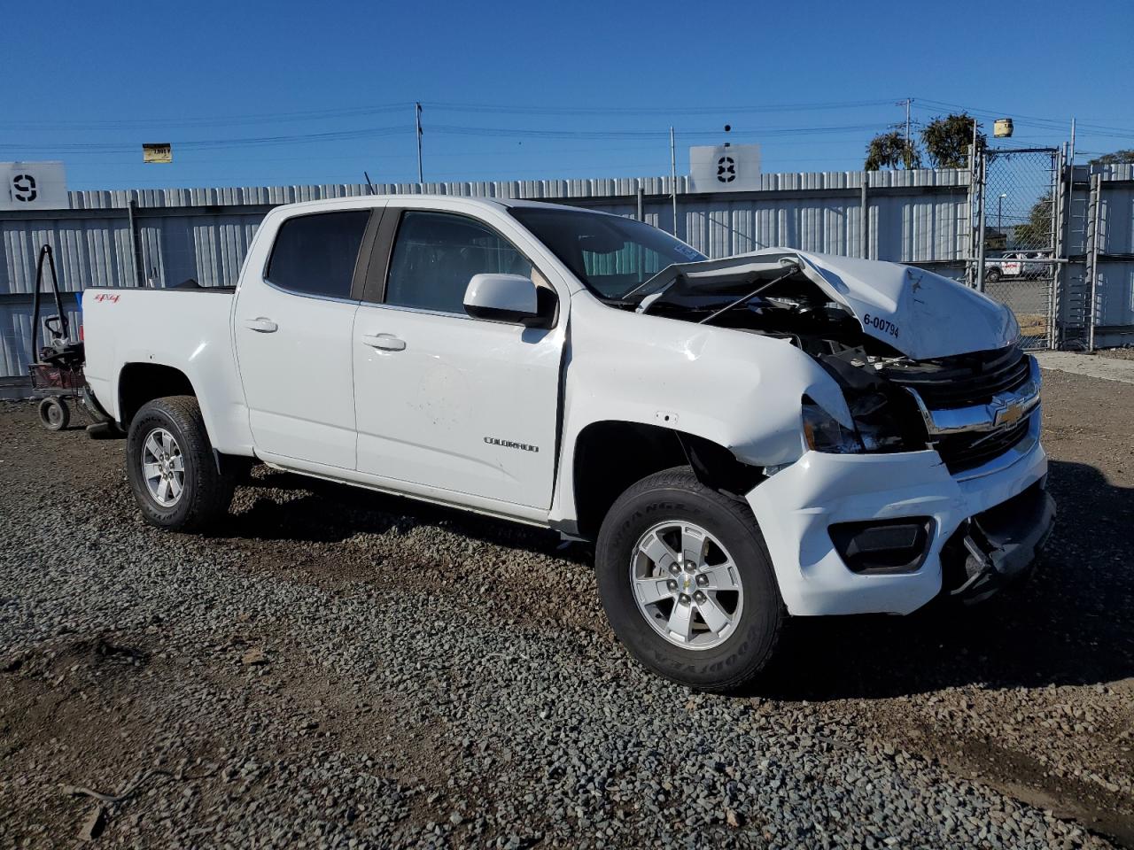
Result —
[[[782, 339], [814, 358], [843, 389], [855, 423], [853, 432], [843, 428], [811, 411], [804, 398], [805, 427], [809, 416], [814, 418], [815, 439], [826, 441], [827, 451], [841, 451], [840, 445], [869, 452], [936, 448], [950, 470], [960, 470], [983, 462], [982, 447], [1002, 451], [1024, 436], [1019, 423], [1015, 431], [993, 434], [995, 440], [983, 432], [945, 436], [932, 427], [930, 413], [985, 405], [997, 393], [1022, 386], [1030, 358], [1015, 345], [915, 360], [895, 347], [900, 333], [895, 323], [869, 313], [860, 318], [833, 300], [814, 270], [801, 262], [780, 258], [778, 265], [755, 269], [678, 272], [635, 306], [640, 313]], [[888, 331], [895, 345], [866, 333], [864, 322]]]

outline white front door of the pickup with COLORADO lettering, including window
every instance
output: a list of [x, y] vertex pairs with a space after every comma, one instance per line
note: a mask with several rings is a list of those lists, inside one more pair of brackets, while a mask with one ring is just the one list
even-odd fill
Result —
[[448, 491], [457, 502], [468, 494], [547, 509], [566, 321], [534, 329], [464, 308], [474, 274], [545, 279], [466, 215], [391, 207], [388, 227], [388, 272], [355, 316], [358, 471]]

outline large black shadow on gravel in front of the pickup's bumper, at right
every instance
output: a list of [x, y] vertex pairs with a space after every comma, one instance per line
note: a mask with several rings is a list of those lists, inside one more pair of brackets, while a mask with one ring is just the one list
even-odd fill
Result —
[[1066, 461], [1051, 461], [1049, 488], [1056, 530], [1026, 584], [972, 607], [794, 621], [759, 692], [824, 700], [1134, 675], [1134, 488]]

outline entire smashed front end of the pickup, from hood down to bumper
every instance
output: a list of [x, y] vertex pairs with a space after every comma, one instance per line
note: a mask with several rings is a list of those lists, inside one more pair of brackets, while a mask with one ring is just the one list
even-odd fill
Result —
[[[769, 252], [675, 266], [635, 308], [780, 340], [846, 408], [799, 398], [799, 454], [747, 492], [796, 614], [980, 601], [1053, 524], [1040, 372], [1004, 306], [888, 263]], [[804, 461], [804, 462], [799, 462]]]

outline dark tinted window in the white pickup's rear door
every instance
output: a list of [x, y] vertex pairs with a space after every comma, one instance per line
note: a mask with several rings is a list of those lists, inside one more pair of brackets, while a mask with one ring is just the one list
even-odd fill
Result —
[[276, 235], [268, 280], [299, 295], [349, 298], [370, 210], [299, 215]]

